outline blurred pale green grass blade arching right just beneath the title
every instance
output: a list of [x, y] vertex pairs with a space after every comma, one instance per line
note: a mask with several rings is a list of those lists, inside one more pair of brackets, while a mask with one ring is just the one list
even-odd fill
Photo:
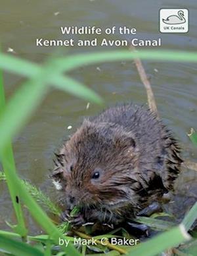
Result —
[[102, 51], [96, 53], [81, 53], [69, 57], [62, 57], [56, 61], [56, 65], [62, 71], [70, 71], [78, 67], [106, 61], [123, 61], [135, 58], [155, 61], [197, 62], [197, 53], [189, 51], [165, 51], [165, 50], [141, 50], [141, 51]]

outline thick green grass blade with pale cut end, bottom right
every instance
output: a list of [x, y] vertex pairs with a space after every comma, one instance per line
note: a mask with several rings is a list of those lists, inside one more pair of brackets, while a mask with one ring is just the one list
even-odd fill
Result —
[[131, 256], [153, 256], [158, 253], [162, 253], [166, 249], [175, 247], [183, 241], [189, 240], [190, 236], [186, 233], [183, 225], [172, 228], [144, 243], [140, 243], [133, 247], [127, 255]]

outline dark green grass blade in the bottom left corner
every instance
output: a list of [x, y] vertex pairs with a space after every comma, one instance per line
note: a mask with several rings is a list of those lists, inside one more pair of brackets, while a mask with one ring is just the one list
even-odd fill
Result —
[[0, 234], [0, 248], [12, 253], [16, 256], [42, 256], [44, 255], [39, 249], [33, 248], [33, 246], [21, 241], [12, 240]]

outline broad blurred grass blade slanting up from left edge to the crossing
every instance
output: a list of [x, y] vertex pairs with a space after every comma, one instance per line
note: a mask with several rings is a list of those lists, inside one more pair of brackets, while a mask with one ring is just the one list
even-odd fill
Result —
[[[29, 81], [14, 94], [0, 116], [0, 153], [9, 139], [25, 125], [33, 110], [45, 96], [46, 88], [41, 82]], [[6, 174], [6, 173], [5, 173]]]

